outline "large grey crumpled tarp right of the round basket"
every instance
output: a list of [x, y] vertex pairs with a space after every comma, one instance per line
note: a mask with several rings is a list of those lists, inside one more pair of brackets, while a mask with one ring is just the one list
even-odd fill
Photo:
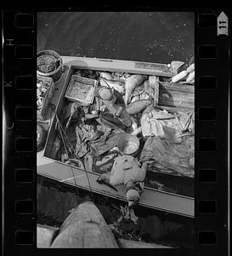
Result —
[[149, 137], [140, 155], [140, 160], [155, 160], [164, 169], [177, 172], [180, 175], [193, 177], [194, 168], [190, 166], [190, 159], [194, 156], [194, 137], [185, 137], [180, 144], [167, 143], [161, 137]]

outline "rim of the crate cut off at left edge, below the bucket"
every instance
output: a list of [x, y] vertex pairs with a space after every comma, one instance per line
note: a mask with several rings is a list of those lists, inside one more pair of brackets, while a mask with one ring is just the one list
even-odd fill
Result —
[[48, 90], [44, 96], [42, 108], [37, 110], [37, 115], [45, 120], [47, 119], [48, 115], [49, 103], [51, 102], [54, 95], [54, 79], [37, 75], [37, 82], [38, 81], [42, 81], [43, 83], [48, 84]]

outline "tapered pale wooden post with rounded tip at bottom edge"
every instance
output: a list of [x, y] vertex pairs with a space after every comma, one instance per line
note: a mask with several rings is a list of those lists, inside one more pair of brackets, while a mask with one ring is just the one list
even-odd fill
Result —
[[118, 248], [118, 245], [99, 209], [86, 201], [65, 219], [50, 247]]

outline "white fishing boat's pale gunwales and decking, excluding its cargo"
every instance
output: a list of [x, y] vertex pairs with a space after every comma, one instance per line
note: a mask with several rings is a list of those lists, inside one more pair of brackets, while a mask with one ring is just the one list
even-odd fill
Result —
[[[177, 66], [180, 67], [181, 65], [176, 65], [177, 63], [175, 62], [167, 65], [76, 56], [61, 56], [61, 58], [65, 69], [61, 78], [54, 83], [53, 96], [48, 106], [51, 109], [44, 120], [38, 117], [38, 121], [42, 121], [45, 129], [48, 129], [48, 137], [45, 147], [37, 153], [37, 175], [99, 195], [126, 201], [124, 185], [116, 186], [115, 190], [105, 184], [99, 184], [96, 180], [100, 173], [94, 172], [94, 169], [89, 172], [88, 170], [65, 164], [60, 160], [54, 160], [51, 156], [55, 141], [55, 116], [59, 117], [62, 108], [64, 108], [65, 92], [71, 76], [75, 70], [89, 69], [93, 71], [145, 74], [168, 80], [168, 78], [171, 79], [178, 73]], [[155, 96], [159, 108], [170, 111], [178, 111], [179, 109], [182, 111], [194, 111], [195, 87], [193, 84], [173, 84], [169, 81], [160, 81], [159, 84], [160, 86], [156, 89]], [[144, 187], [144, 193], [141, 196], [139, 205], [189, 218], [194, 218], [195, 216], [195, 200], [193, 197], [154, 189], [147, 185]]]

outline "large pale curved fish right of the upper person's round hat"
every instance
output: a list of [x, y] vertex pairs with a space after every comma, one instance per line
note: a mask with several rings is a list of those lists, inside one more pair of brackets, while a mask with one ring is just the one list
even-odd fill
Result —
[[125, 83], [125, 98], [124, 98], [124, 102], [125, 105], [127, 106], [128, 100], [130, 98], [130, 96], [133, 93], [133, 90], [135, 89], [136, 86], [138, 86], [139, 84], [141, 84], [145, 79], [147, 79], [148, 76], [147, 75], [139, 75], [139, 74], [135, 74], [130, 76]]

